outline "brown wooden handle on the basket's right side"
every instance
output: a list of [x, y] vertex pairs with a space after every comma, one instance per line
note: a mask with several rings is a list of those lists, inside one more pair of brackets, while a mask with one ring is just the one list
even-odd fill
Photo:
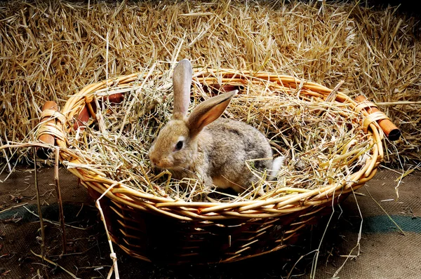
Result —
[[385, 132], [385, 135], [389, 140], [399, 140], [399, 137], [401, 137], [401, 130], [399, 130], [399, 128], [397, 128], [396, 125], [390, 121], [389, 117], [387, 117], [384, 112], [377, 108], [376, 104], [370, 102], [363, 95], [356, 97], [355, 101], [357, 102], [355, 107], [356, 111], [360, 112], [362, 109], [364, 109], [368, 113], [368, 117], [363, 120], [364, 130], [367, 129], [370, 123], [377, 121], [380, 128], [382, 128], [383, 132]]

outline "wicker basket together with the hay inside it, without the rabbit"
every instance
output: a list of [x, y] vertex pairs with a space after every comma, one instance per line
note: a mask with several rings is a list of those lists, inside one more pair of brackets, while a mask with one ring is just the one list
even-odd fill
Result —
[[[262, 179], [240, 195], [203, 195], [196, 179], [182, 187], [169, 172], [154, 172], [147, 156], [172, 110], [172, 71], [159, 67], [86, 86], [69, 98], [61, 111], [67, 121], [54, 130], [62, 163], [94, 198], [106, 192], [112, 240], [134, 257], [203, 264], [274, 252], [373, 177], [382, 160], [375, 119], [339, 90], [292, 76], [198, 68], [192, 107], [218, 88], [239, 89], [222, 117], [255, 126], [288, 161], [269, 182], [245, 162]], [[81, 123], [86, 111], [91, 118]]]

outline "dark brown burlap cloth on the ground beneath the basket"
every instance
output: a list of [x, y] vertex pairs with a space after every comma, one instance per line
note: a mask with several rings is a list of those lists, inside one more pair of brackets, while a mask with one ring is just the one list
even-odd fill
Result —
[[[4, 180], [6, 175], [1, 175], [0, 179]], [[120, 278], [286, 278], [288, 273], [295, 275], [293, 278], [309, 278], [326, 226], [328, 230], [319, 249], [314, 278], [332, 278], [333, 275], [341, 279], [421, 278], [421, 173], [415, 172], [403, 179], [399, 199], [396, 199], [399, 176], [391, 170], [380, 170], [359, 190], [365, 196], [349, 196], [336, 208], [332, 218], [323, 219], [302, 238], [300, 245], [237, 264], [168, 268], [132, 259], [114, 247], [119, 258]], [[41, 169], [39, 186], [43, 215], [45, 219], [57, 222], [53, 183], [53, 169]], [[65, 202], [65, 221], [74, 228], [66, 228], [68, 251], [60, 257], [60, 228], [45, 223], [47, 257], [78, 278], [105, 278], [112, 261], [98, 210], [83, 186], [65, 170], [60, 170], [60, 186]], [[0, 213], [0, 274], [4, 273], [8, 278], [34, 278], [39, 272], [44, 278], [72, 278], [60, 267], [42, 264], [31, 252], [41, 252], [39, 219], [31, 213], [37, 212], [34, 197], [34, 172], [30, 169], [13, 172], [0, 184], [1, 210], [18, 206]], [[22, 206], [24, 203], [28, 203], [26, 208]], [[360, 210], [363, 219], [361, 240], [358, 241]], [[358, 252], [359, 257], [342, 257]], [[307, 256], [300, 259], [304, 254]], [[347, 262], [335, 274], [345, 259]]]

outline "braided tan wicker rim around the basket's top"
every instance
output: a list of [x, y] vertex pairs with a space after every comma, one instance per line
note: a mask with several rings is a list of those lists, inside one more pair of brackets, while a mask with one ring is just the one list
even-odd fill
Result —
[[[126, 76], [118, 76], [114, 79], [108, 79], [98, 83], [91, 83], [88, 86], [83, 87], [78, 93], [71, 95], [69, 100], [65, 103], [61, 114], [65, 116], [66, 121], [64, 123], [56, 121], [58, 127], [56, 127], [53, 134], [60, 147], [61, 163], [67, 165], [68, 170], [76, 175], [76, 177], [79, 177], [84, 186], [91, 187], [95, 191], [98, 191], [98, 193], [105, 193], [106, 196], [112, 198], [112, 200], [115, 200], [117, 203], [123, 203], [129, 207], [189, 221], [194, 219], [213, 220], [277, 217], [290, 212], [304, 210], [307, 207], [330, 203], [333, 198], [358, 189], [375, 175], [377, 166], [383, 159], [383, 132], [376, 122], [378, 116], [377, 118], [370, 117], [370, 114], [362, 109], [363, 106], [361, 106], [361, 103], [352, 100], [351, 97], [342, 93], [340, 90], [336, 90], [336, 92], [334, 92], [335, 101], [347, 102], [354, 111], [363, 114], [361, 128], [366, 132], [373, 145], [372, 149], [366, 151], [370, 153], [371, 150], [373, 150], [373, 154], [367, 158], [367, 161], [361, 170], [352, 173], [347, 180], [342, 179], [342, 182], [340, 183], [335, 182], [328, 186], [312, 190], [303, 189], [302, 193], [294, 195], [286, 194], [286, 196], [268, 198], [267, 200], [248, 200], [230, 203], [187, 202], [169, 197], [163, 198], [154, 196], [150, 193], [142, 193], [141, 191], [131, 189], [121, 182], [109, 179], [105, 176], [105, 173], [98, 170], [69, 167], [69, 163], [81, 163], [78, 158], [72, 154], [72, 151], [67, 149], [66, 135], [71, 130], [71, 128], [67, 127], [69, 125], [69, 120], [79, 114], [86, 104], [93, 102], [96, 96], [95, 92], [98, 90], [116, 85], [127, 86], [136, 81], [140, 76], [144, 79], [149, 79], [150, 76], [156, 76], [156, 74], [152, 75], [152, 72], [147, 74], [138, 72]], [[279, 75], [270, 72], [239, 72], [235, 69], [194, 69], [194, 82], [201, 83], [202, 85], [210, 82], [222, 82], [223, 84], [241, 84], [244, 86], [250, 81], [269, 82], [275, 88], [276, 86], [293, 89], [299, 88], [301, 93], [305, 93], [305, 95], [314, 95], [318, 97], [328, 97], [330, 93], [333, 93], [333, 90], [321, 86], [319, 83], [305, 81], [303, 79], [295, 78], [294, 76]], [[366, 107], [369, 105], [370, 104], [366, 104]], [[387, 118], [387, 116], [385, 116], [385, 118]], [[269, 205], [276, 205], [276, 208], [268, 208]]]

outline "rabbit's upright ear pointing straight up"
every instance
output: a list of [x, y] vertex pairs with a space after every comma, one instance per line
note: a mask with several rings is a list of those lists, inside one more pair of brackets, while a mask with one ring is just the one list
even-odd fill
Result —
[[175, 66], [173, 73], [174, 111], [173, 119], [182, 119], [187, 115], [190, 104], [190, 87], [192, 86], [192, 64], [183, 59]]

